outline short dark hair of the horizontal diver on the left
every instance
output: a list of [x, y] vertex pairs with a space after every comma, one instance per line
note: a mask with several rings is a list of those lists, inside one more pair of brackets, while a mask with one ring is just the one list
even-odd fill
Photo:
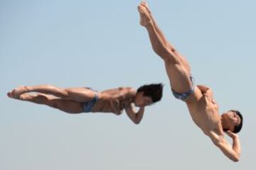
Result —
[[148, 96], [153, 103], [160, 101], [163, 96], [163, 84], [146, 84], [137, 89], [137, 93], [143, 92], [143, 96]]

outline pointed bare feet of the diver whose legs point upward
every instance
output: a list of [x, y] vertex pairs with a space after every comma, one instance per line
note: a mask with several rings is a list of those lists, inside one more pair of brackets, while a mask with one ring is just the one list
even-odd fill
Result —
[[138, 11], [140, 16], [140, 24], [146, 27], [146, 26], [149, 26], [149, 24], [153, 23], [153, 21], [151, 20], [149, 11], [146, 9], [143, 3], [145, 2], [142, 1], [142, 3], [139, 4]]

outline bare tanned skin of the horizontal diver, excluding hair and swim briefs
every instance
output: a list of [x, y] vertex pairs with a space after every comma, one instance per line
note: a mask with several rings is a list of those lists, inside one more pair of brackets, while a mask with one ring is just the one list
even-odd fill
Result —
[[[65, 113], [82, 113], [82, 103], [92, 101], [95, 92], [85, 87], [63, 89], [51, 85], [37, 85], [20, 86], [7, 95], [10, 98], [58, 108]], [[98, 100], [92, 107], [93, 113], [120, 115], [124, 110], [135, 124], [141, 122], [144, 107], [152, 103], [149, 96], [144, 96], [142, 91], [137, 93], [137, 90], [131, 87], [119, 87], [97, 92], [97, 97]], [[139, 107], [139, 110], [135, 111], [134, 106]]]

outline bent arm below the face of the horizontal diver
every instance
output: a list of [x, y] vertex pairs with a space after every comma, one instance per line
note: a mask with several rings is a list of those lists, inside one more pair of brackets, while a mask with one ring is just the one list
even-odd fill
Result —
[[144, 115], [144, 107], [139, 108], [139, 111], [136, 113], [130, 104], [129, 107], [125, 108], [125, 112], [133, 123], [139, 124], [142, 121]]

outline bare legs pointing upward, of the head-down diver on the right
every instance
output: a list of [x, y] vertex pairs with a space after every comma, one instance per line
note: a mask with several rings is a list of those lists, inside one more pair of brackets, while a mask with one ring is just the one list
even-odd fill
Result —
[[178, 93], [191, 90], [191, 80], [180, 57], [174, 54], [169, 46], [164, 43], [164, 40], [162, 40], [159, 33], [157, 33], [146, 7], [140, 5], [138, 9], [141, 17], [141, 24], [149, 33], [149, 39], [154, 52], [164, 60], [171, 89], [174, 89]]

